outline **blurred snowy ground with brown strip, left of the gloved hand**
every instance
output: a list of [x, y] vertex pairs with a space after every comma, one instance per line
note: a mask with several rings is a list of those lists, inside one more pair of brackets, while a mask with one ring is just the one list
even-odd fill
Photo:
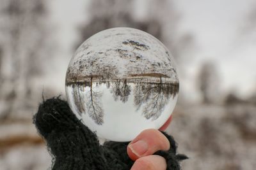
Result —
[[51, 156], [30, 122], [1, 122], [0, 169], [45, 170]]

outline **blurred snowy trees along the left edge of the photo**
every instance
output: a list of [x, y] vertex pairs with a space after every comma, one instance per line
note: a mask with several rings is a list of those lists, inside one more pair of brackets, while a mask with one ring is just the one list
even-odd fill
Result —
[[35, 106], [33, 81], [43, 74], [51, 46], [44, 0], [1, 1], [0, 14], [0, 117], [7, 118]]

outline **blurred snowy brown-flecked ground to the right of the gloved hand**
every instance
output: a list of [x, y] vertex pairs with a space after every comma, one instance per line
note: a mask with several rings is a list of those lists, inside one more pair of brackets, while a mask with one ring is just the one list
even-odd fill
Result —
[[256, 167], [256, 106], [191, 106], [176, 110], [168, 132], [188, 160], [183, 169]]

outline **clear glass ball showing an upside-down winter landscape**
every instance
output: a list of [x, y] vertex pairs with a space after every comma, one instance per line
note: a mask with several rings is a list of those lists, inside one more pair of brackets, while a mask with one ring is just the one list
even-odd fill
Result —
[[131, 141], [172, 115], [179, 78], [172, 55], [138, 29], [106, 29], [86, 39], [68, 65], [71, 110], [99, 138]]

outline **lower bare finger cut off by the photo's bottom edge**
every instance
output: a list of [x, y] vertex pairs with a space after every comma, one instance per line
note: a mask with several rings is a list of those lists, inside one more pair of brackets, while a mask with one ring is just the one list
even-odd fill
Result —
[[165, 170], [166, 160], [159, 155], [149, 155], [137, 159], [131, 170]]

